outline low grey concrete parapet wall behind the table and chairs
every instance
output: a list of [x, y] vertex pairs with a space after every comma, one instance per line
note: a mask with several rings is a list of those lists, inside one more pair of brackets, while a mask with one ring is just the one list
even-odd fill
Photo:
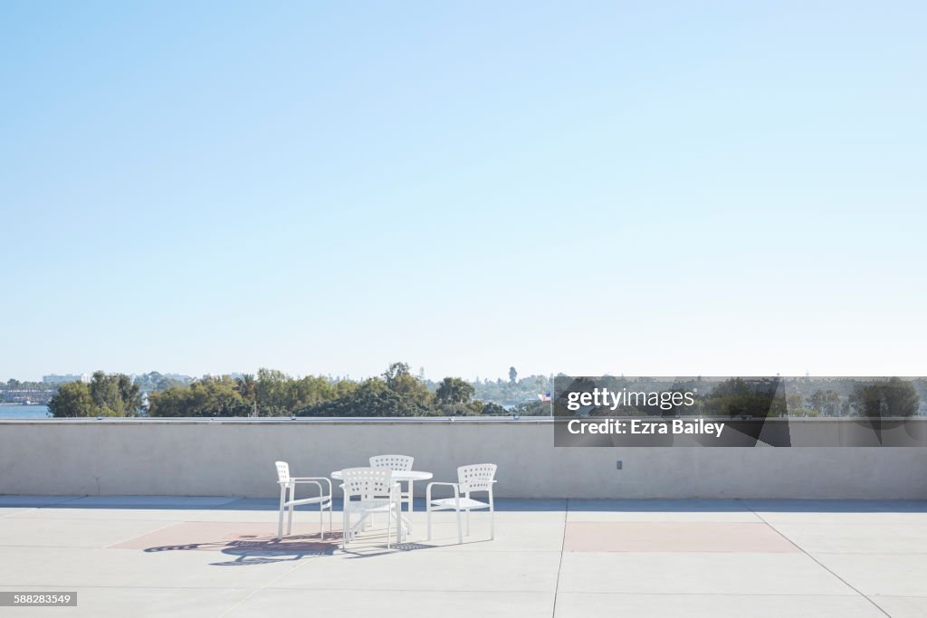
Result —
[[0, 494], [274, 496], [274, 460], [316, 476], [402, 453], [436, 480], [497, 463], [500, 497], [927, 498], [927, 448], [553, 448], [552, 432], [528, 419], [5, 421]]

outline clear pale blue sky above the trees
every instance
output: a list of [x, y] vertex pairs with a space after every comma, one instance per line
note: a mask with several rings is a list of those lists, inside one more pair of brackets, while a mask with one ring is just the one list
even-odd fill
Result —
[[927, 4], [0, 4], [0, 380], [925, 374]]

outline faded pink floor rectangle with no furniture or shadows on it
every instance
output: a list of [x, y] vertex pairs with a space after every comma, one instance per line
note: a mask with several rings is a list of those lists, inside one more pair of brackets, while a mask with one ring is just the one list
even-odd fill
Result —
[[568, 522], [564, 551], [800, 551], [766, 523]]

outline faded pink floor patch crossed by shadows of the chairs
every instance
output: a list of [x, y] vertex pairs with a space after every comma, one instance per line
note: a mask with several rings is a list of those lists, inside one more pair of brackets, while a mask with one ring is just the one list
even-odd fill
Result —
[[[286, 525], [284, 527], [286, 531]], [[146, 551], [254, 549], [264, 551], [330, 551], [341, 542], [341, 531], [319, 536], [319, 524], [294, 523], [293, 534], [277, 541], [276, 523], [183, 522], [110, 546]]]

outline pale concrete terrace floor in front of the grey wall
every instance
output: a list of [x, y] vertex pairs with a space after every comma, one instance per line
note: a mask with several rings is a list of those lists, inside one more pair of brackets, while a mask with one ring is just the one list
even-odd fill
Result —
[[[273, 499], [0, 496], [0, 591], [76, 591], [4, 615], [924, 616], [927, 502], [497, 500], [456, 545], [349, 551]], [[336, 529], [340, 527], [336, 511]]]

